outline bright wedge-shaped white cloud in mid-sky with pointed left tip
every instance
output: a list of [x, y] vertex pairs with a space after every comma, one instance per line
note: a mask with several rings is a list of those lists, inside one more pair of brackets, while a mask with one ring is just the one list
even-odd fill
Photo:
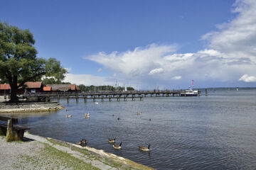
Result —
[[161, 65], [159, 58], [175, 51], [174, 45], [148, 45], [146, 47], [137, 47], [133, 51], [126, 52], [99, 52], [97, 55], [85, 57], [100, 64], [114, 72], [129, 75], [130, 77], [139, 74], [147, 74], [152, 67]]

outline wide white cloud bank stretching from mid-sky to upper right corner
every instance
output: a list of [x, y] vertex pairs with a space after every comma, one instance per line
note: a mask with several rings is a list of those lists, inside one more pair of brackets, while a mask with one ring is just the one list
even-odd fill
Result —
[[[125, 52], [98, 52], [84, 57], [110, 69], [120, 81], [141, 84], [245, 81], [256, 72], [256, 1], [237, 0], [229, 23], [202, 36], [208, 47], [198, 52], [178, 53], [176, 45], [147, 45]], [[160, 74], [161, 73], [161, 74]], [[243, 77], [240, 75], [245, 74]], [[154, 77], [152, 76], [154, 75]], [[178, 75], [178, 76], [177, 76]], [[213, 84], [210, 84], [212, 86]]]

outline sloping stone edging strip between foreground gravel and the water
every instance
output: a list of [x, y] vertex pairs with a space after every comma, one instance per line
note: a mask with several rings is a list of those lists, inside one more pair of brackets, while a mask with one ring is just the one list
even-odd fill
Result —
[[49, 137], [40, 137], [37, 135], [31, 135], [25, 132], [24, 137], [36, 140], [38, 142], [50, 145], [61, 152], [70, 154], [70, 156], [79, 159], [86, 164], [90, 164], [97, 169], [114, 170], [114, 169], [144, 169], [151, 170], [149, 166], [144, 166], [133, 162], [124, 157], [117, 157], [115, 154], [107, 153], [101, 149], [95, 149], [92, 147], [81, 147], [69, 142], [63, 142], [60, 140], [54, 140]]

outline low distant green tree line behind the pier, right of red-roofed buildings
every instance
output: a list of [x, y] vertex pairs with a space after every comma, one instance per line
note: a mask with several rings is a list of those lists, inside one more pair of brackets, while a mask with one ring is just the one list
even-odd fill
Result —
[[[122, 86], [85, 86], [84, 84], [80, 84], [78, 86], [81, 91], [124, 91], [124, 87]], [[127, 91], [134, 91], [133, 87], [127, 87]]]

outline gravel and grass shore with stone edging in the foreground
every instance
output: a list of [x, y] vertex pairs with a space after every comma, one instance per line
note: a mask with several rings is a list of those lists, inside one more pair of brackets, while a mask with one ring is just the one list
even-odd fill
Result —
[[26, 142], [0, 136], [0, 169], [151, 169], [91, 147], [31, 135]]

